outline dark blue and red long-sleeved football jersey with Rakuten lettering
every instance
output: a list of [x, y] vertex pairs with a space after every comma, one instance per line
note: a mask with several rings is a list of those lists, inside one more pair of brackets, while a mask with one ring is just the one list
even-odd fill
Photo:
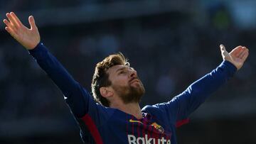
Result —
[[223, 61], [170, 101], [144, 106], [143, 118], [137, 119], [129, 113], [95, 102], [43, 43], [29, 53], [63, 92], [80, 125], [82, 140], [97, 144], [176, 144], [176, 127], [188, 122], [188, 116], [237, 70], [231, 62]]

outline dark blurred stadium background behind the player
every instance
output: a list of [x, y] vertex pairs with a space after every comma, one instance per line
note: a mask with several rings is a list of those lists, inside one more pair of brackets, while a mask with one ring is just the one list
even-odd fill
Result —
[[[84, 87], [97, 62], [123, 52], [139, 77], [145, 104], [168, 101], [222, 61], [219, 45], [250, 48], [228, 84], [178, 128], [178, 143], [256, 143], [256, 1], [0, 0], [14, 11]], [[0, 143], [81, 143], [63, 95], [0, 24]]]

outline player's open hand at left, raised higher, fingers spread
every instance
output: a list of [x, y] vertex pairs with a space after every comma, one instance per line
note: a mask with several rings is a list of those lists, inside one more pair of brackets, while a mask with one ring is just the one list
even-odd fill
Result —
[[40, 43], [40, 35], [33, 16], [28, 17], [28, 22], [31, 26], [30, 29], [21, 23], [14, 12], [6, 13], [6, 16], [8, 18], [8, 20], [4, 19], [6, 31], [10, 33], [18, 43], [21, 43], [23, 47], [27, 50], [32, 50]]

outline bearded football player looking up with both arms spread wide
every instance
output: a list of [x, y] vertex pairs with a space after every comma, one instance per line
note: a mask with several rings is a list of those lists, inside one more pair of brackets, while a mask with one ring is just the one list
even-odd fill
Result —
[[82, 140], [87, 143], [176, 143], [176, 127], [188, 122], [189, 114], [232, 77], [249, 55], [245, 47], [238, 46], [228, 53], [220, 45], [223, 62], [215, 70], [171, 101], [143, 109], [139, 100], [145, 90], [137, 72], [121, 53], [110, 55], [95, 67], [92, 93], [96, 103], [41, 43], [33, 16], [28, 18], [30, 29], [23, 26], [15, 13], [6, 16], [6, 31], [30, 52], [63, 92], [80, 123]]

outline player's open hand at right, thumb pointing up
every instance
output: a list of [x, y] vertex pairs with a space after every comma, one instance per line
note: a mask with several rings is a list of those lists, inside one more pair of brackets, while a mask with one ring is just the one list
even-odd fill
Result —
[[242, 67], [249, 55], [249, 50], [243, 46], [238, 46], [228, 53], [227, 50], [225, 50], [225, 46], [220, 45], [220, 51], [223, 60], [228, 60], [229, 62], [233, 63], [238, 70]]

